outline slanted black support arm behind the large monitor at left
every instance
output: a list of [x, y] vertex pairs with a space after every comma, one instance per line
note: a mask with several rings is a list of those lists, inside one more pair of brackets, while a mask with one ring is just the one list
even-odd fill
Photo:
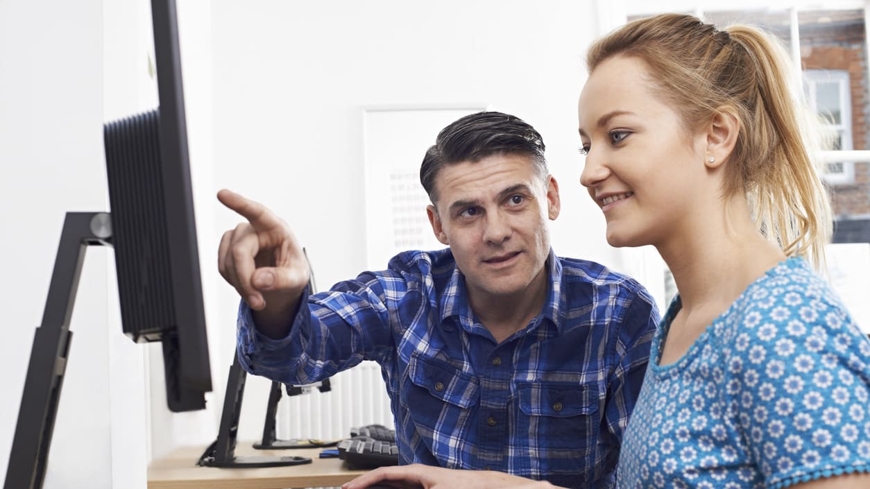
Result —
[[57, 419], [57, 402], [70, 354], [70, 317], [84, 251], [90, 245], [111, 245], [109, 213], [67, 212], [51, 272], [43, 323], [37, 327], [30, 350], [30, 364], [3, 484], [5, 489], [43, 486], [51, 434]]

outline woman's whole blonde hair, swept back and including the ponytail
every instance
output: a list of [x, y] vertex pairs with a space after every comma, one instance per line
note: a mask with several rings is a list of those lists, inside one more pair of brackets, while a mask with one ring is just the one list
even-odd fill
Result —
[[788, 256], [824, 264], [830, 202], [817, 164], [820, 131], [793, 90], [786, 51], [746, 25], [717, 30], [697, 17], [663, 14], [627, 23], [592, 44], [590, 72], [614, 56], [646, 63], [653, 90], [694, 131], [719, 111], [740, 120], [723, 191], [744, 192], [760, 231]]

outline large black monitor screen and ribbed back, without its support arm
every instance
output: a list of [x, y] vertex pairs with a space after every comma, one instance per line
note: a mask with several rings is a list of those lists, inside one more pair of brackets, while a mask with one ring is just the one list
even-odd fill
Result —
[[106, 171], [124, 333], [162, 341], [171, 411], [211, 391], [187, 151], [175, 0], [152, 0], [160, 105], [105, 124]]

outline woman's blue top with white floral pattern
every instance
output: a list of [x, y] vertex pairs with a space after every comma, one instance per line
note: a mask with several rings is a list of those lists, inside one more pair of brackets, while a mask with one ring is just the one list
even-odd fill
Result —
[[620, 488], [778, 489], [870, 472], [870, 341], [801, 258], [750, 285], [683, 358], [659, 365], [619, 456]]

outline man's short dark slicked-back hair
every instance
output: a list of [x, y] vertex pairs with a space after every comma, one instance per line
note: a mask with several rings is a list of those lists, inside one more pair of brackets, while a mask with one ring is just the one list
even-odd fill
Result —
[[544, 158], [544, 139], [519, 117], [502, 112], [477, 112], [448, 125], [426, 151], [420, 165], [420, 183], [432, 204], [438, 200], [435, 177], [445, 164], [477, 162], [493, 154], [531, 157], [535, 172], [545, 178], [549, 171]]

